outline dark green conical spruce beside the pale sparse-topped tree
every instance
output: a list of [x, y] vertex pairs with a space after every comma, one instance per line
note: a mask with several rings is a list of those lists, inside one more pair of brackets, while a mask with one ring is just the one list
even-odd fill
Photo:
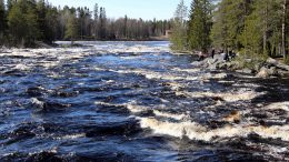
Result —
[[209, 0], [193, 0], [189, 20], [189, 45], [192, 50], [207, 52], [210, 47], [211, 3]]

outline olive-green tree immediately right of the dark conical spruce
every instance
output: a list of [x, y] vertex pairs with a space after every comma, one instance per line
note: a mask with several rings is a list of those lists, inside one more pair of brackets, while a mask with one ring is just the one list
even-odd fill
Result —
[[[241, 50], [246, 18], [252, 12], [252, 0], [222, 0], [215, 12], [211, 38], [226, 51]], [[258, 24], [257, 24], [258, 26]]]

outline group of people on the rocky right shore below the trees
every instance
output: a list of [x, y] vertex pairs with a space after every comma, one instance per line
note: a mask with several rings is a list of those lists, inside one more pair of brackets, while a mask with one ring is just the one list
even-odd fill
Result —
[[198, 53], [199, 61], [202, 61], [209, 57], [211, 57], [213, 59], [216, 54], [220, 54], [225, 61], [230, 61], [230, 60], [235, 59], [237, 55], [235, 51], [225, 51], [225, 50], [216, 51], [215, 49], [211, 49], [210, 52], [200, 51]]

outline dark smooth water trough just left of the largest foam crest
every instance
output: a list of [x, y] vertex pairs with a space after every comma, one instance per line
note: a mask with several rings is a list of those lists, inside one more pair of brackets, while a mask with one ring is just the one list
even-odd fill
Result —
[[131, 135], [140, 132], [140, 125], [137, 121], [126, 121], [121, 123], [108, 123], [106, 125], [96, 125], [89, 130], [86, 135], [88, 138], [106, 136], [106, 135]]

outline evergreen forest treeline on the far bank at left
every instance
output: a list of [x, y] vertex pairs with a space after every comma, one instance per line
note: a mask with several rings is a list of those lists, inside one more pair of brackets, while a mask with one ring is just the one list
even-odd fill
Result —
[[171, 20], [107, 18], [106, 8], [53, 7], [44, 0], [0, 0], [0, 45], [32, 47], [54, 40], [148, 40], [171, 28]]

